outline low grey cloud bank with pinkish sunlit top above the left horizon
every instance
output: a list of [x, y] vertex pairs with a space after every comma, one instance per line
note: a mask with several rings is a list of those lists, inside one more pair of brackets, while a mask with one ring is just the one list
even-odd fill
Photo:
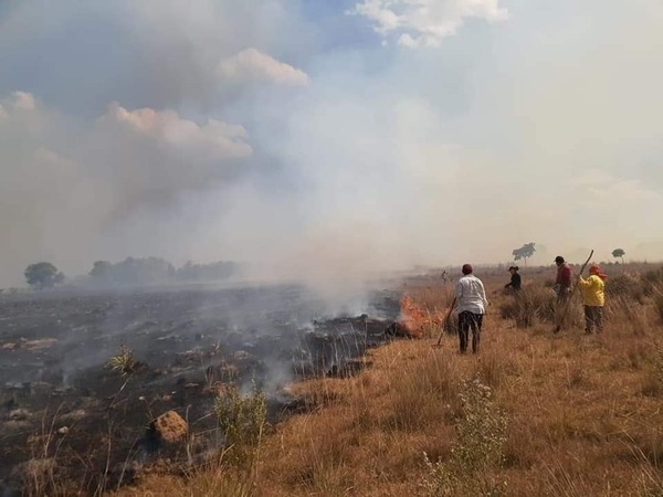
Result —
[[187, 192], [228, 188], [252, 155], [243, 127], [173, 110], [113, 104], [76, 121], [21, 92], [0, 106], [0, 229], [10, 233], [1, 276], [12, 282], [33, 258], [80, 258], [81, 268], [104, 232], [150, 212], [161, 219]]

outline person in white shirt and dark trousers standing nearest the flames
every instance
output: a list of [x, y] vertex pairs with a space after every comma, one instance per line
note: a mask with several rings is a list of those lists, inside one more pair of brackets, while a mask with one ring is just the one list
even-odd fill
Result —
[[481, 339], [481, 327], [483, 315], [488, 306], [486, 292], [483, 283], [472, 274], [472, 266], [464, 264], [463, 277], [459, 279], [455, 287], [459, 303], [459, 338], [461, 340], [461, 353], [467, 352], [470, 329], [472, 329], [472, 352], [478, 352]]

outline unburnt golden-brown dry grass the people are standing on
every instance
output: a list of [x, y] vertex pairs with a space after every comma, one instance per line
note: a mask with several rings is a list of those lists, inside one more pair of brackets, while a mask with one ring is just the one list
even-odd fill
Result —
[[[460, 394], [474, 378], [491, 388], [507, 426], [501, 456], [482, 466], [481, 478], [505, 485], [463, 484], [453, 495], [663, 495], [663, 327], [653, 295], [613, 289], [606, 330], [593, 336], [583, 335], [573, 303], [569, 327], [554, 335], [537, 297], [549, 274], [533, 282], [534, 272], [523, 273], [532, 298], [519, 305], [535, 309], [535, 319], [520, 326], [518, 311], [494, 313], [513, 308], [514, 298], [498, 292], [503, 273], [486, 275], [494, 306], [478, 356], [459, 355], [452, 335], [433, 347], [438, 330], [429, 330], [431, 338], [370, 351], [372, 367], [357, 377], [295, 385], [309, 412], [264, 438], [250, 483], [201, 470], [186, 480], [150, 477], [119, 495], [430, 495], [424, 453], [433, 463], [455, 461], [466, 417]], [[450, 303], [449, 286], [428, 279], [408, 290], [431, 311]]]

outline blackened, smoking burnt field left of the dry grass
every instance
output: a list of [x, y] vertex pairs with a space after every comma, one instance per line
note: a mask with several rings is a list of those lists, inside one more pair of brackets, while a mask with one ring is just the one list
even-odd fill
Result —
[[[297, 286], [2, 296], [0, 490], [50, 480], [93, 494], [152, 463], [200, 463], [223, 443], [225, 385], [263, 391], [277, 421], [302, 408], [290, 382], [351, 374], [399, 310], [399, 295], [376, 290], [330, 311]], [[188, 423], [186, 450], [150, 430], [169, 411]]]

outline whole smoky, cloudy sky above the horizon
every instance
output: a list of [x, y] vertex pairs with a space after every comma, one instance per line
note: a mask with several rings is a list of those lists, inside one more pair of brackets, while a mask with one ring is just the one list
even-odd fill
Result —
[[661, 28], [660, 0], [0, 0], [0, 286], [661, 260]]

